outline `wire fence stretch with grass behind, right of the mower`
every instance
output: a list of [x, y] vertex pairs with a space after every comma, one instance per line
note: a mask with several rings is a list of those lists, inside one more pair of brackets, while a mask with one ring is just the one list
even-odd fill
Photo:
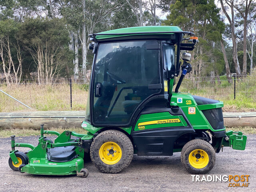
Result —
[[192, 77], [182, 82], [180, 91], [217, 100], [255, 100], [256, 76]]

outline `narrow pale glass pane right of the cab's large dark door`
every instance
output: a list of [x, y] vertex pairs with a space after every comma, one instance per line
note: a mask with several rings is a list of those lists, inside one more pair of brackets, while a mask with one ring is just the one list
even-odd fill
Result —
[[175, 71], [176, 59], [173, 45], [163, 43], [164, 69]]

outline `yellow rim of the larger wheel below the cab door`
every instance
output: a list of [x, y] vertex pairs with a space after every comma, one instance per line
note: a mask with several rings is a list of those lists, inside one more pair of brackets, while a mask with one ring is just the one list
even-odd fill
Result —
[[99, 156], [102, 162], [108, 165], [114, 165], [120, 161], [122, 150], [115, 142], [106, 142], [100, 147]]

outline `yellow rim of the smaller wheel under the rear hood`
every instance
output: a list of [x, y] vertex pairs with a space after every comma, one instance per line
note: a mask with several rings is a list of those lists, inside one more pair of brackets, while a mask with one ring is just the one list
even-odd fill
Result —
[[196, 169], [202, 169], [209, 163], [208, 154], [202, 149], [195, 149], [188, 156], [190, 165]]

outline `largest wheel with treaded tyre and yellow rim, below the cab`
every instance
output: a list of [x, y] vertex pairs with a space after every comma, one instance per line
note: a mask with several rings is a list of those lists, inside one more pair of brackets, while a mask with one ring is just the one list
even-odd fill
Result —
[[94, 138], [90, 157], [101, 172], [118, 173], [132, 161], [132, 142], [126, 134], [118, 130], [106, 130]]

